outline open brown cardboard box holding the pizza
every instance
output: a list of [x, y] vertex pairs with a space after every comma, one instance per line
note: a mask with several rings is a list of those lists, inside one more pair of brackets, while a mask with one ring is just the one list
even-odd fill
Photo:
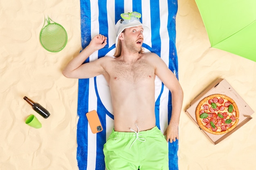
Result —
[[[199, 102], [209, 95], [213, 94], [222, 94], [232, 98], [239, 110], [239, 122], [231, 132], [222, 134], [222, 135], [213, 135], [209, 132], [202, 130], [195, 118], [195, 109], [198, 106]], [[193, 101], [190, 103], [190, 107], [186, 110], [187, 115], [195, 122], [195, 124], [200, 128], [200, 130], [208, 137], [208, 139], [214, 144], [218, 144], [223, 139], [227, 138], [229, 135], [234, 133], [238, 128], [246, 124], [249, 120], [252, 119], [251, 115], [254, 113], [252, 108], [238, 95], [234, 88], [227, 82], [225, 79], [216, 79], [210, 86], [208, 86], [202, 93], [200, 93]]]

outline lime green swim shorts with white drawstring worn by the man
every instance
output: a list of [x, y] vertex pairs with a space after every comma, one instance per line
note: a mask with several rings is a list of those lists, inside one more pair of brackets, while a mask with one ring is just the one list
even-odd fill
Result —
[[169, 170], [168, 143], [157, 126], [138, 135], [113, 130], [103, 152], [107, 170]]

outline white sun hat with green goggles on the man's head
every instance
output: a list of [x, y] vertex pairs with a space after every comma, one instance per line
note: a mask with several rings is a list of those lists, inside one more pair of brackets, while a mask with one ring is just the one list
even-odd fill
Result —
[[117, 21], [117, 24], [115, 25], [115, 30], [117, 34], [116, 38], [116, 46], [118, 42], [118, 37], [121, 34], [121, 32], [124, 31], [126, 28], [130, 28], [133, 26], [142, 26], [144, 31], [143, 31], [143, 36], [146, 37], [150, 33], [150, 29], [148, 26], [142, 24], [139, 19], [141, 17], [140, 13], [137, 12], [132, 12], [132, 13], [122, 13], [121, 14], [122, 19]]

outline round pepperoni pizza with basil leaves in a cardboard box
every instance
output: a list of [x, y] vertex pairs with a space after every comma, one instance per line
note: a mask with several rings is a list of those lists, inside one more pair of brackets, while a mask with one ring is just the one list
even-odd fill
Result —
[[236, 127], [239, 111], [233, 99], [226, 95], [214, 94], [199, 102], [195, 117], [201, 129], [221, 135]]

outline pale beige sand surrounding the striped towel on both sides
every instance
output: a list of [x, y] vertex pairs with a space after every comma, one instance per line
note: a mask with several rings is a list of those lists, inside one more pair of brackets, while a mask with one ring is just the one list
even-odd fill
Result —
[[[180, 119], [180, 170], [255, 169], [256, 119], [213, 145], [185, 110], [204, 88], [225, 78], [256, 110], [256, 62], [209, 48], [194, 1], [179, 0], [176, 18], [179, 79], [184, 90]], [[64, 26], [67, 46], [58, 53], [39, 42], [44, 14]], [[0, 170], [77, 170], [76, 107], [78, 80], [61, 74], [81, 50], [79, 0], [0, 0]], [[40, 117], [23, 97], [49, 110]], [[43, 127], [25, 119], [35, 114]]]

